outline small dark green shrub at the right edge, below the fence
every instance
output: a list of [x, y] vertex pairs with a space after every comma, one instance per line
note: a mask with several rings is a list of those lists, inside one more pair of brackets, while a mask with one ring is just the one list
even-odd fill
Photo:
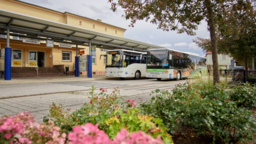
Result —
[[229, 93], [238, 107], [256, 107], [256, 88], [254, 86], [236, 86]]

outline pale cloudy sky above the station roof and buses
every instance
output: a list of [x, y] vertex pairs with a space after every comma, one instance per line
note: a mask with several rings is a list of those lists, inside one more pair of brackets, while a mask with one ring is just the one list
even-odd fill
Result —
[[206, 22], [195, 31], [195, 36], [177, 34], [177, 31], [163, 31], [157, 29], [157, 25], [143, 21], [137, 21], [134, 27], [129, 27], [131, 21], [122, 17], [124, 10], [117, 8], [116, 12], [110, 10], [111, 4], [108, 0], [21, 0], [26, 3], [39, 5], [59, 12], [70, 12], [94, 20], [101, 19], [102, 22], [127, 29], [124, 38], [133, 39], [139, 42], [159, 45], [183, 52], [197, 53], [205, 56], [200, 47], [193, 43], [196, 37], [210, 38]]

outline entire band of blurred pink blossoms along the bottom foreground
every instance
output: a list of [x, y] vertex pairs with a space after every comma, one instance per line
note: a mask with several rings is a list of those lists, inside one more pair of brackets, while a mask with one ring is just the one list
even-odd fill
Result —
[[144, 132], [129, 134], [125, 129], [117, 133], [114, 140], [98, 129], [98, 124], [87, 123], [84, 126], [75, 126], [73, 131], [60, 134], [60, 128], [49, 121], [49, 125], [34, 123], [34, 118], [27, 112], [4, 117], [0, 119], [0, 143], [69, 143], [69, 144], [103, 144], [103, 143], [126, 143], [126, 144], [160, 144], [161, 137], [154, 139]]

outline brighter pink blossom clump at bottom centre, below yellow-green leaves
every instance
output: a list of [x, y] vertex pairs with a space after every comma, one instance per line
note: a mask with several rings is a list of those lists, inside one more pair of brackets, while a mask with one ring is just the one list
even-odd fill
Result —
[[117, 133], [113, 140], [110, 140], [108, 135], [98, 129], [98, 124], [93, 125], [87, 123], [84, 126], [75, 126], [73, 132], [68, 134], [69, 144], [83, 144], [83, 143], [93, 143], [93, 144], [160, 144], [163, 143], [160, 137], [156, 139], [150, 137], [150, 135], [144, 132], [135, 132], [129, 134], [125, 129], [122, 129]]

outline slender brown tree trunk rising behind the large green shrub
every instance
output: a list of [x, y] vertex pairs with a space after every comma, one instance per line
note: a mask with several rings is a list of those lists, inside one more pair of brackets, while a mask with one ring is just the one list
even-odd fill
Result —
[[217, 42], [216, 42], [216, 34], [215, 34], [215, 23], [212, 11], [212, 3], [211, 0], [205, 0], [205, 5], [207, 9], [207, 18], [208, 18], [208, 26], [210, 30], [211, 37], [211, 45], [212, 45], [212, 63], [213, 63], [213, 84], [217, 84], [220, 81], [220, 73], [219, 73], [219, 63], [218, 63], [218, 53], [217, 53]]

